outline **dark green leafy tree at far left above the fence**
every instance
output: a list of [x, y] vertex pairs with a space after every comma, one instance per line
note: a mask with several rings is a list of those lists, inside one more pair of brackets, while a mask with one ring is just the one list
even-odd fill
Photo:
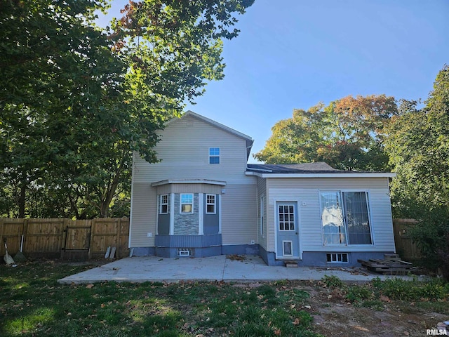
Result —
[[126, 67], [93, 25], [94, 11], [104, 6], [101, 0], [1, 2], [0, 171], [17, 216], [25, 216], [28, 190], [54, 184], [54, 168], [82, 166], [81, 147], [107, 129], [105, 107], [118, 97]]

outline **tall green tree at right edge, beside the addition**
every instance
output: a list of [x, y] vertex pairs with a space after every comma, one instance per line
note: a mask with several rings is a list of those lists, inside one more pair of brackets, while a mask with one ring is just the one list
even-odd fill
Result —
[[392, 185], [396, 211], [449, 209], [449, 67], [443, 67], [422, 109], [403, 101], [389, 128], [387, 150], [398, 177]]

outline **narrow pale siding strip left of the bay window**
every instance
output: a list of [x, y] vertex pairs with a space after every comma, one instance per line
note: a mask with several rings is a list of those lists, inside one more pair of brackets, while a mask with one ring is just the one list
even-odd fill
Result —
[[[133, 198], [133, 209], [131, 209], [130, 246], [154, 246], [157, 216], [156, 187], [134, 183], [131, 197]], [[152, 233], [152, 237], [147, 237], [147, 233]]]

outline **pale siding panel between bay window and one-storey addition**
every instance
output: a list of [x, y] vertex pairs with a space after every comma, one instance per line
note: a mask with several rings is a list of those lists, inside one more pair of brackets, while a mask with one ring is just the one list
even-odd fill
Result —
[[226, 193], [222, 194], [222, 243], [250, 244], [251, 240], [256, 241], [256, 223], [256, 185], [226, 186]]

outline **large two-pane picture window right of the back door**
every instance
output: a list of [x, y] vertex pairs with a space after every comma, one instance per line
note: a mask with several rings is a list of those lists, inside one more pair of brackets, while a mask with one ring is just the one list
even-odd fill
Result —
[[321, 192], [323, 243], [372, 244], [367, 192]]

